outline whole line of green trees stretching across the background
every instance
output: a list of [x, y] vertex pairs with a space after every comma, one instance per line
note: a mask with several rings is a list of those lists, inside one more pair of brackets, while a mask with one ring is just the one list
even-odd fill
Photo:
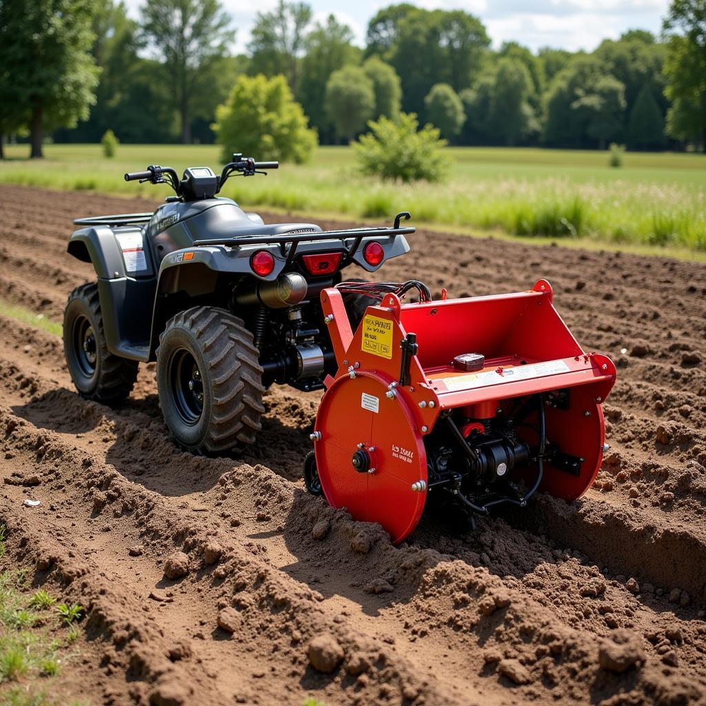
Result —
[[[239, 76], [284, 76], [321, 143], [417, 114], [457, 145], [634, 150], [706, 147], [706, 0], [673, 0], [662, 35], [632, 30], [594, 52], [491, 49], [479, 18], [402, 3], [364, 48], [330, 15], [280, 0], [244, 54], [219, 0], [0, 0], [0, 136], [210, 143]], [[2, 140], [0, 139], [0, 148]]]

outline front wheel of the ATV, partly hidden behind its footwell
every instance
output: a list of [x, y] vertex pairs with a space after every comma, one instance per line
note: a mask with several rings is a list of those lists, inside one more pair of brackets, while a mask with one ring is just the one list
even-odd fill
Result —
[[137, 380], [137, 361], [109, 352], [105, 342], [98, 285], [81, 285], [64, 310], [64, 354], [73, 384], [82, 397], [121, 402]]

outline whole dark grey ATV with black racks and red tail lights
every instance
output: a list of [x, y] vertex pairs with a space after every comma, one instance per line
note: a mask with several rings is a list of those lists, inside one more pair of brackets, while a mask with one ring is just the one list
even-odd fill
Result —
[[[68, 253], [90, 262], [97, 282], [71, 292], [64, 313], [66, 362], [90, 400], [124, 400], [138, 364], [157, 361], [169, 430], [185, 449], [219, 454], [253, 443], [268, 385], [320, 390], [338, 364], [320, 294], [342, 270], [366, 273], [409, 251], [401, 227], [325, 231], [313, 223], [265, 224], [219, 196], [229, 177], [277, 169], [233, 155], [220, 175], [152, 165], [126, 181], [174, 190], [154, 213], [81, 218]], [[355, 329], [369, 297], [343, 295]]]

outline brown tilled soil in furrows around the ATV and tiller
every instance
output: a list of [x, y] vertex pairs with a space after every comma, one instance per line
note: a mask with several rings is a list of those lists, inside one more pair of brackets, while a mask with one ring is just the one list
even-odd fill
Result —
[[[93, 277], [66, 254], [71, 219], [154, 205], [0, 187], [0, 297], [59, 318]], [[77, 695], [706, 703], [706, 266], [423, 231], [410, 241], [381, 277], [452, 296], [546, 277], [578, 340], [614, 358], [612, 448], [593, 488], [465, 537], [424, 520], [394, 547], [304, 491], [319, 395], [273, 388], [256, 446], [193, 457], [164, 427], [153, 364], [122, 407], [87, 402], [58, 338], [0, 317], [3, 561], [89, 609], [83, 660], [67, 668]], [[166, 578], [180, 565], [184, 577]]]

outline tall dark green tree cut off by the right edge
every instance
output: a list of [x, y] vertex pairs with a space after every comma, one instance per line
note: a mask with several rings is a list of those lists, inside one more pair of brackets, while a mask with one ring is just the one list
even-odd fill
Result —
[[681, 140], [700, 140], [706, 152], [706, 3], [673, 0], [664, 35], [669, 38], [664, 92], [671, 100], [667, 131]]

